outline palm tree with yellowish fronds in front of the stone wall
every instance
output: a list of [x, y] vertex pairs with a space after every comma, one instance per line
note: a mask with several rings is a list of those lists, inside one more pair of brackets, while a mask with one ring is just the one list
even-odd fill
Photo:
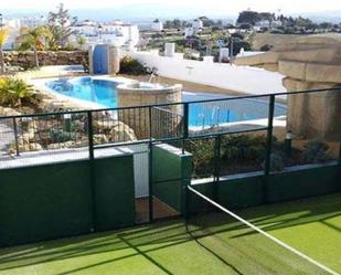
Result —
[[45, 40], [47, 40], [50, 36], [51, 32], [46, 27], [36, 27], [21, 30], [21, 43], [19, 45], [19, 50], [32, 50], [34, 52], [35, 67], [39, 67], [38, 51], [44, 50]]

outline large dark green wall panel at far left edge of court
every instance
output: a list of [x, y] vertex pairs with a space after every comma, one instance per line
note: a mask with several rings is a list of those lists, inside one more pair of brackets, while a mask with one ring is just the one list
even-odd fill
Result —
[[0, 246], [92, 229], [88, 161], [0, 170]]

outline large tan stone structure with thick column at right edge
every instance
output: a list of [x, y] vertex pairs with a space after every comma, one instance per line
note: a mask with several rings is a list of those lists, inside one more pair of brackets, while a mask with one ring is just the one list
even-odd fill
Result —
[[289, 92], [330, 89], [289, 96], [287, 128], [306, 139], [340, 140], [341, 93], [332, 91], [341, 87], [341, 34], [302, 36], [235, 64], [278, 71]]

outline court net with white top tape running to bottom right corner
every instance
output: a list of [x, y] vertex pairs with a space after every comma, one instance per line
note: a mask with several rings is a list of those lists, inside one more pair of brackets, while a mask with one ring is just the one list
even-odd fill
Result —
[[220, 264], [226, 265], [226, 274], [338, 275], [192, 187], [188, 186], [188, 190], [190, 203], [205, 209], [190, 215], [188, 233]]

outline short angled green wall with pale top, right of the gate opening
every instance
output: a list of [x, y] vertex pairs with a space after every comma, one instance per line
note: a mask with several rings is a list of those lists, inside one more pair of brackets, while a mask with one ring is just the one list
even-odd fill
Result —
[[191, 174], [191, 155], [179, 155], [160, 146], [153, 147], [152, 193], [180, 213], [184, 207], [182, 187], [190, 181]]

